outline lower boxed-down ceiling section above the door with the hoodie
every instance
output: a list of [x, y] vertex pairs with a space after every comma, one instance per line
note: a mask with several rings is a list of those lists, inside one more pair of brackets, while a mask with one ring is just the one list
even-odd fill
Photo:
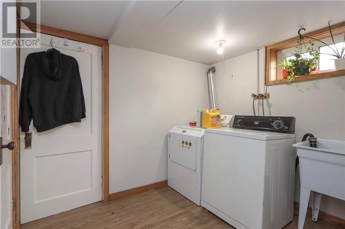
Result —
[[109, 39], [126, 12], [126, 1], [41, 1], [41, 24]]

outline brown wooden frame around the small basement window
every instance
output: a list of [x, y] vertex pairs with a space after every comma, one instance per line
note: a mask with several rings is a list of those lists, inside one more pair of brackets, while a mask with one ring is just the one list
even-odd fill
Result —
[[[333, 36], [338, 34], [343, 34], [345, 32], [345, 21], [342, 23], [337, 23], [335, 25], [331, 25]], [[321, 30], [315, 30], [313, 32], [309, 32], [305, 34], [306, 36], [313, 37], [315, 39], [327, 39], [331, 37], [331, 34], [328, 30], [328, 27], [322, 28]], [[309, 39], [305, 39], [306, 43], [308, 43]], [[286, 41], [282, 41], [273, 45], [268, 45], [266, 47], [266, 60], [265, 60], [265, 85], [279, 85], [287, 83], [286, 79], [278, 79], [277, 74], [279, 74], [279, 69], [276, 69], [277, 66], [277, 52], [286, 50], [291, 47], [295, 47], [298, 45], [299, 36], [294, 37], [293, 39], [288, 39]], [[295, 78], [294, 82], [302, 82], [308, 80], [316, 80], [319, 78], [328, 78], [334, 76], [345, 76], [345, 70], [331, 70], [331, 71], [324, 71], [318, 72], [315, 74], [310, 74], [307, 76], [297, 77]]]

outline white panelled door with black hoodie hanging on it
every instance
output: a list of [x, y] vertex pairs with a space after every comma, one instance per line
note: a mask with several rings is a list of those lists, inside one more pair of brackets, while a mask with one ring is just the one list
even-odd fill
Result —
[[21, 49], [21, 77], [26, 56], [54, 47], [73, 56], [86, 103], [86, 118], [50, 131], [32, 131], [32, 149], [21, 133], [21, 223], [100, 201], [101, 180], [101, 47], [41, 34], [41, 48]]

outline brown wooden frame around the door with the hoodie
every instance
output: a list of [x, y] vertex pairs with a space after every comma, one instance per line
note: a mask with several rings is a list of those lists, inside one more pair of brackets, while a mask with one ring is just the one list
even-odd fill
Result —
[[[109, 201], [109, 43], [106, 39], [100, 39], [95, 36], [88, 36], [67, 30], [52, 28], [46, 25], [36, 25], [34, 23], [23, 22], [34, 32], [59, 36], [61, 38], [79, 41], [91, 45], [97, 45], [102, 48], [102, 201]], [[17, 23], [18, 26], [21, 23]], [[39, 28], [39, 31], [37, 31]], [[19, 28], [20, 29], [20, 28]], [[14, 229], [20, 227], [20, 150], [19, 150], [19, 88], [20, 88], [20, 49], [17, 48], [17, 85], [11, 88], [11, 108], [12, 108], [12, 140], [15, 148], [12, 154], [12, 226]]]

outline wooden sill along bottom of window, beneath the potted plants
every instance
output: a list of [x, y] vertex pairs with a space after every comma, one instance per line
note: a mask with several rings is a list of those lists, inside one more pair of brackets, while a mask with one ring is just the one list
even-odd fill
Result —
[[[293, 83], [297, 82], [303, 82], [303, 81], [308, 81], [308, 80], [317, 80], [320, 78], [329, 78], [329, 77], [334, 77], [334, 76], [345, 76], [345, 69], [344, 70], [339, 70], [339, 71], [331, 71], [331, 72], [317, 72], [314, 74], [309, 74], [306, 76], [297, 76]], [[281, 80], [271, 80], [266, 82], [267, 86], [270, 85], [282, 85], [282, 84], [287, 84], [288, 80], [286, 78], [281, 79]]]

